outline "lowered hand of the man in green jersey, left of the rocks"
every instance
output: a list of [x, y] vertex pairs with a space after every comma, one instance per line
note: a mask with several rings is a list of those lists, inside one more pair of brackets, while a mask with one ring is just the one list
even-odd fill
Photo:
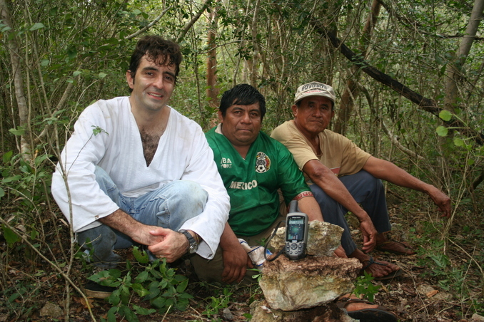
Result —
[[253, 268], [251, 258], [240, 243], [223, 248], [222, 281], [231, 284], [240, 282], [246, 276], [247, 267]]

